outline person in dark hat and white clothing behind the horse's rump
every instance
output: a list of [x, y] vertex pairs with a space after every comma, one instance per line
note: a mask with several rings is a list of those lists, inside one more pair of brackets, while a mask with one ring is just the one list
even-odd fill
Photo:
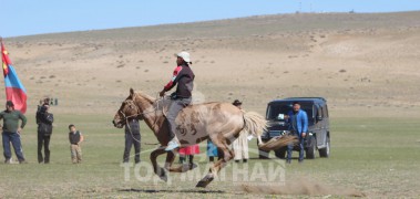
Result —
[[[235, 100], [233, 105], [242, 109], [242, 102], [239, 100]], [[235, 163], [239, 163], [240, 160], [248, 163], [249, 154], [247, 135], [248, 134], [246, 132], [240, 132], [239, 136], [232, 144], [235, 153]]]

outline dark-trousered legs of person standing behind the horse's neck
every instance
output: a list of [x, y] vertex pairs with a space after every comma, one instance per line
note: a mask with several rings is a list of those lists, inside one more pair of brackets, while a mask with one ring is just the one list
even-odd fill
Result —
[[129, 118], [129, 123], [125, 124], [125, 149], [123, 156], [123, 163], [130, 161], [131, 146], [134, 144], [134, 161], [140, 163], [140, 122], [139, 118]]

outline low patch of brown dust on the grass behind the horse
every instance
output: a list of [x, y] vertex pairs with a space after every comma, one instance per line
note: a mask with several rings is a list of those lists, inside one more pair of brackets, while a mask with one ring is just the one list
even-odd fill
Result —
[[281, 186], [250, 186], [242, 185], [240, 189], [248, 193], [258, 195], [309, 195], [309, 196], [350, 196], [350, 197], [366, 197], [365, 193], [352, 188], [338, 188], [327, 186], [321, 182], [317, 182], [308, 179], [297, 179], [295, 181], [288, 181]]

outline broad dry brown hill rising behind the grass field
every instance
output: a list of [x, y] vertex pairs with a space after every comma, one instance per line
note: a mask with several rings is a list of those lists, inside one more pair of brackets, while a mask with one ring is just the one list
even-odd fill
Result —
[[[240, 98], [264, 113], [288, 96], [325, 96], [337, 116], [418, 116], [420, 12], [263, 15], [6, 39], [33, 112], [113, 114], [129, 88], [156, 95], [187, 50], [195, 101]], [[368, 109], [368, 112], [366, 112]], [[112, 115], [111, 115], [112, 116]]]

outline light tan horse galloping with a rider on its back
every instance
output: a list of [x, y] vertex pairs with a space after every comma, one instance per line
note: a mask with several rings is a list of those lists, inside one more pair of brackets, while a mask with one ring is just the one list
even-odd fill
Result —
[[[168, 124], [162, 104], [162, 101], [156, 101], [142, 93], [134, 93], [131, 88], [130, 96], [116, 112], [113, 124], [115, 127], [122, 128], [130, 117], [144, 119], [162, 145], [151, 154], [154, 172], [166, 181], [165, 170], [156, 163], [157, 156], [166, 153], [164, 146], [170, 139]], [[239, 133], [250, 133], [258, 137], [262, 144], [260, 135], [267, 127], [267, 122], [259, 114], [245, 113], [228, 103], [205, 103], [187, 106], [180, 112], [176, 124], [175, 134], [182, 146], [195, 145], [209, 138], [224, 155], [224, 158], [211, 167], [208, 174], [198, 181], [196, 187], [206, 187], [226, 163], [233, 159], [234, 153], [228, 148], [228, 145], [239, 136]], [[174, 153], [167, 153], [165, 169], [180, 171], [171, 168], [174, 158]]]

